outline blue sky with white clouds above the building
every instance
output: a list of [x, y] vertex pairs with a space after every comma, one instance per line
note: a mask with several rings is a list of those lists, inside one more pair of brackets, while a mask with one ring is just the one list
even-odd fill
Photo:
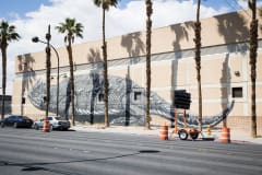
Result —
[[[152, 2], [153, 28], [195, 19], [196, 0]], [[257, 2], [258, 5], [262, 4], [262, 0]], [[247, 0], [202, 0], [201, 3], [201, 19], [247, 9]], [[58, 34], [55, 26], [66, 18], [73, 18], [84, 25], [84, 38], [76, 39], [75, 44], [102, 38], [102, 10], [94, 5], [93, 0], [0, 0], [0, 21], [15, 25], [22, 37], [8, 47], [7, 94], [12, 94], [13, 90], [15, 56], [44, 51], [45, 46], [32, 43], [32, 37], [45, 38], [48, 24], [51, 25], [51, 44], [55, 47], [64, 46], [63, 35]], [[117, 8], [111, 8], [106, 14], [106, 37], [145, 31], [145, 18], [144, 0], [121, 0]], [[0, 72], [1, 80], [1, 65]]]

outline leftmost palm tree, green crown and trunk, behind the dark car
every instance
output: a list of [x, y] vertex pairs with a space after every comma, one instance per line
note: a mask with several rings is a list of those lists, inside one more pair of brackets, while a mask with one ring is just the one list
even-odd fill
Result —
[[4, 97], [7, 88], [7, 49], [10, 42], [19, 39], [20, 35], [15, 32], [15, 26], [9, 25], [7, 21], [2, 21], [0, 24], [0, 47], [2, 52], [2, 119], [4, 116]]

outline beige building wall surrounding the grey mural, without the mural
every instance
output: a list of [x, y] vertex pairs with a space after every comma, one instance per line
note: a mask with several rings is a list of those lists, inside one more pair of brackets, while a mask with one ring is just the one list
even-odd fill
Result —
[[[247, 12], [229, 13], [202, 20], [202, 47], [210, 52], [202, 51], [202, 95], [203, 114], [210, 116], [219, 114], [226, 105], [235, 100], [235, 107], [228, 117], [229, 124], [235, 126], [236, 117], [248, 120], [251, 114], [251, 83], [249, 51], [242, 48], [230, 50], [231, 45], [245, 43], [249, 39], [250, 18]], [[260, 23], [262, 22], [260, 19]], [[152, 61], [152, 91], [156, 92], [167, 102], [171, 103], [174, 90], [187, 90], [191, 93], [192, 104], [189, 113], [198, 114], [198, 86], [196, 70], [193, 56], [183, 56], [181, 51], [194, 48], [193, 23], [187, 22], [171, 26], [153, 30], [152, 55], [160, 58], [160, 54], [174, 52], [177, 58], [157, 59]], [[259, 30], [259, 38], [262, 38]], [[102, 42], [88, 42], [73, 46], [73, 57], [76, 66], [90, 65], [103, 60], [100, 50]], [[145, 55], [145, 33], [138, 32], [107, 39], [108, 60], [118, 61], [133, 58], [142, 59]], [[224, 50], [219, 50], [225, 46]], [[68, 54], [64, 47], [58, 48], [60, 67], [68, 67]], [[262, 51], [258, 51], [257, 78], [257, 115], [262, 117]], [[21, 97], [26, 98], [23, 113], [28, 116], [39, 117], [43, 112], [31, 105], [26, 93], [37, 79], [45, 78], [45, 52], [33, 52], [17, 56], [13, 88], [13, 113], [22, 113]], [[109, 67], [110, 75], [126, 78], [130, 75], [142, 88], [145, 88], [145, 62], [130, 63], [128, 66]], [[52, 52], [52, 75], [56, 77], [57, 58]], [[83, 72], [88, 72], [84, 70]], [[27, 73], [27, 75], [25, 75]], [[67, 72], [61, 72], [64, 74]], [[81, 73], [75, 71], [75, 74]], [[52, 80], [56, 83], [56, 80]], [[22, 88], [24, 86], [24, 88]], [[242, 88], [242, 97], [233, 97], [233, 88]], [[260, 119], [261, 121], [261, 119]], [[159, 122], [158, 119], [156, 122]], [[259, 124], [262, 128], [262, 124]], [[262, 129], [260, 129], [262, 133]]]

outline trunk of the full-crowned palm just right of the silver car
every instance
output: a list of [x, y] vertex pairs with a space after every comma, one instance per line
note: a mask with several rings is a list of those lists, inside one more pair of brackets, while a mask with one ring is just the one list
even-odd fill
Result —
[[70, 65], [70, 88], [71, 88], [71, 104], [72, 104], [72, 125], [75, 126], [75, 108], [74, 108], [74, 74], [73, 74], [73, 54], [72, 54], [72, 38], [69, 37], [69, 45], [67, 46]]

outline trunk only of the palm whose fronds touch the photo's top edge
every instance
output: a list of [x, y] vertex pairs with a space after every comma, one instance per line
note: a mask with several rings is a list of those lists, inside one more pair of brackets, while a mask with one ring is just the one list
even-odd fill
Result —
[[109, 127], [108, 119], [108, 74], [107, 74], [107, 44], [106, 44], [106, 30], [105, 30], [105, 12], [106, 9], [103, 8], [103, 58], [104, 58], [104, 101], [105, 101], [105, 127]]

